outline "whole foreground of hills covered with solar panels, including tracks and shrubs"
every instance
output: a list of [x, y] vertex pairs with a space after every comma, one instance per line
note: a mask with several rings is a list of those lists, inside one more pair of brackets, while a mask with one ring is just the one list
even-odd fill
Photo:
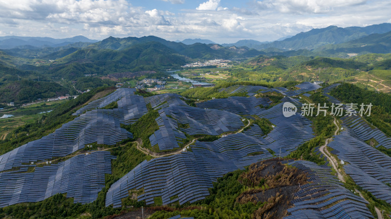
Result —
[[344, 86], [232, 84], [203, 99], [116, 89], [0, 155], [0, 216], [50, 218], [31, 210], [46, 203], [55, 218], [387, 218], [386, 129], [358, 112], [315, 116], [317, 104], [302, 115], [303, 103], [347, 109]]

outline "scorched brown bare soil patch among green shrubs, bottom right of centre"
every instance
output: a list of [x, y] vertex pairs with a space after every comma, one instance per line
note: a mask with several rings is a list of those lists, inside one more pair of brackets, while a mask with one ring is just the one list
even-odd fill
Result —
[[250, 165], [238, 180], [250, 189], [240, 194], [237, 202], [265, 202], [254, 213], [254, 219], [281, 219], [288, 216], [287, 209], [293, 207], [290, 201], [299, 190], [299, 183], [307, 183], [307, 175], [279, 159], [269, 159]]

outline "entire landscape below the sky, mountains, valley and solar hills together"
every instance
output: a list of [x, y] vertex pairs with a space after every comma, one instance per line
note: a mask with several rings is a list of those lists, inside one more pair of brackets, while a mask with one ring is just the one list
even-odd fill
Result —
[[388, 219], [390, 31], [0, 37], [0, 218]]

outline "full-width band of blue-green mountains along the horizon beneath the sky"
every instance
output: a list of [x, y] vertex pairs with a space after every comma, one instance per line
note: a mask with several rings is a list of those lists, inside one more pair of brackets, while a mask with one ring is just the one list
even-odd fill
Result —
[[[387, 30], [389, 31], [386, 32]], [[390, 30], [390, 23], [347, 28], [329, 26], [300, 33], [281, 41], [239, 40], [233, 44], [222, 45], [210, 40], [203, 41], [212, 43], [186, 44], [155, 36], [109, 37], [101, 41], [89, 40], [82, 36], [68, 39], [10, 36], [0, 37], [0, 42], [4, 40], [39, 41], [51, 43], [52, 46], [39, 48], [37, 44], [34, 44], [35, 46], [23, 45], [18, 48], [3, 49], [0, 51], [0, 68], [8, 73], [16, 70], [46, 72], [51, 77], [72, 79], [88, 73], [164, 70], [179, 67], [195, 59], [235, 59], [259, 55], [346, 58], [366, 53], [391, 53]], [[197, 40], [200, 39], [183, 41], [191, 43]], [[62, 43], [65, 45], [53, 46]], [[262, 49], [257, 50], [254, 47]], [[55, 61], [38, 66], [26, 64], [18, 57]], [[35, 63], [35, 61], [29, 63]], [[13, 74], [8, 73], [7, 77], [12, 77]], [[17, 74], [22, 75], [23, 72]]]

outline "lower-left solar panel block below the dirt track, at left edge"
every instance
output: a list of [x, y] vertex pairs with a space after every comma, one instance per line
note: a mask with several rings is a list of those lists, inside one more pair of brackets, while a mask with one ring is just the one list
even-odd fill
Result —
[[111, 159], [107, 151], [77, 155], [58, 164], [27, 166], [17, 171], [0, 173], [0, 207], [21, 202], [37, 202], [58, 193], [66, 193], [76, 203], [90, 203], [105, 187], [105, 174], [111, 174]]

